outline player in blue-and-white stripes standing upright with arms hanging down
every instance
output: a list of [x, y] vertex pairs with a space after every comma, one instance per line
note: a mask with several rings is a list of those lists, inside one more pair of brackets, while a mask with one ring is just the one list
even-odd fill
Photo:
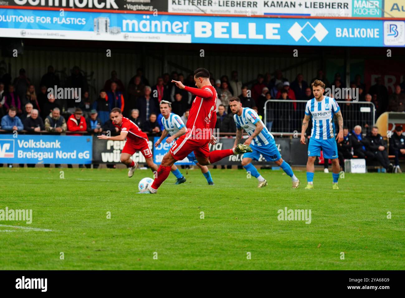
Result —
[[[325, 84], [320, 80], [312, 83], [312, 92], [315, 96], [307, 102], [305, 116], [301, 129], [301, 144], [305, 144], [305, 131], [307, 130], [309, 119], [312, 117], [311, 138], [308, 145], [307, 161], [307, 182], [305, 189], [313, 189], [313, 175], [315, 173], [314, 162], [320, 156], [321, 150], [324, 158], [332, 160], [333, 189], [339, 189], [337, 181], [339, 179], [340, 166], [337, 155], [337, 144], [343, 140], [343, 117], [339, 105], [335, 99], [324, 96]], [[333, 116], [337, 117], [339, 123], [339, 133], [335, 140], [335, 122]]]

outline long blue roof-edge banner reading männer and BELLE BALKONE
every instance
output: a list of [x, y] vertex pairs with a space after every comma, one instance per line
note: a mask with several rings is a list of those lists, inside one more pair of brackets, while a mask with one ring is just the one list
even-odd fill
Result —
[[4, 37], [384, 47], [405, 45], [405, 22], [0, 9]]

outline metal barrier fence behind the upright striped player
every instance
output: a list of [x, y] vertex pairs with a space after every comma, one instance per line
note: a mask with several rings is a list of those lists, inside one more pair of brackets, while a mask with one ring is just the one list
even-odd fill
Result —
[[[337, 101], [337, 103], [342, 111], [343, 126], [347, 126], [349, 131], [352, 131], [356, 125], [362, 127], [363, 133], [371, 131], [371, 127], [375, 123], [375, 106], [373, 103], [368, 101]], [[307, 101], [270, 99], [264, 103], [263, 122], [271, 133], [281, 135], [291, 135], [294, 132], [301, 133], [306, 104]], [[309, 128], [311, 128], [312, 121], [309, 123]], [[335, 127], [339, 128], [336, 117]]]

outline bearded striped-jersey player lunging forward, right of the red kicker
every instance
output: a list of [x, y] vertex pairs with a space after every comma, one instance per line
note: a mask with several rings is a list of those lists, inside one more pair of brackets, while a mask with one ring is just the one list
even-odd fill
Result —
[[264, 123], [260, 120], [256, 111], [248, 107], [242, 107], [241, 100], [238, 97], [232, 97], [230, 99], [229, 107], [234, 114], [233, 118], [237, 127], [235, 146], [237, 146], [241, 140], [243, 130], [249, 135], [244, 144], [249, 145], [253, 152], [243, 154], [242, 165], [246, 171], [249, 171], [252, 176], [259, 180], [258, 187], [265, 187], [267, 181], [259, 174], [256, 167], [252, 165], [252, 160], [258, 161], [260, 155], [262, 155], [266, 161], [274, 161], [276, 165], [281, 167], [281, 169], [291, 177], [293, 189], [298, 188], [300, 181], [296, 178], [294, 172], [292, 172], [290, 165], [281, 158], [273, 135], [268, 131], [266, 126], [264, 126]]

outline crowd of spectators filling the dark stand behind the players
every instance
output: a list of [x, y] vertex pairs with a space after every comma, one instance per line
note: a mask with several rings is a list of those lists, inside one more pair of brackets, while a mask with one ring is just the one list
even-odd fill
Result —
[[[170, 101], [172, 112], [180, 115], [182, 120], [187, 122], [189, 109], [194, 99], [190, 92], [181, 90], [172, 83], [172, 79], [181, 81], [185, 86], [195, 87], [191, 74], [184, 75], [176, 71], [162, 74], [155, 83], [151, 84], [145, 77], [143, 69], [139, 68], [126, 85], [119, 79], [116, 71], [111, 71], [111, 77], [105, 81], [97, 98], [93, 99], [90, 97], [87, 81], [80, 68], [74, 66], [65, 86], [62, 87], [81, 88], [81, 101], [75, 102], [73, 99], [55, 99], [53, 94], [48, 94], [48, 88], [60, 86], [60, 79], [55, 74], [53, 66], [48, 66], [47, 73], [43, 75], [39, 84], [31, 81], [26, 71], [20, 69], [19, 76], [13, 81], [11, 81], [10, 75], [0, 78], [1, 129], [6, 131], [25, 130], [30, 133], [41, 131], [63, 133], [67, 131], [67, 134], [70, 135], [101, 133], [102, 131], [117, 132], [118, 129], [109, 119], [109, 113], [114, 107], [119, 107], [124, 116], [130, 118], [143, 131], [160, 135], [164, 129], [161, 123], [162, 115], [159, 112], [160, 101]], [[346, 87], [339, 73], [335, 74], [334, 80], [330, 83], [322, 70], [319, 70], [317, 76], [310, 80], [305, 80], [302, 74], [298, 74], [291, 82], [283, 76], [280, 70], [276, 70], [274, 74], [258, 74], [256, 79], [248, 82], [242, 82], [237, 71], [231, 72], [230, 79], [227, 75], [215, 78], [211, 74], [211, 84], [218, 94], [215, 128], [224, 135], [236, 131], [233, 115], [229, 109], [229, 100], [232, 96], [238, 96], [243, 107], [255, 109], [260, 116], [263, 116], [264, 105], [268, 100], [307, 101], [312, 99], [310, 85], [315, 79], [324, 81], [326, 88]], [[36, 89], [36, 87], [39, 88]], [[404, 82], [396, 85], [394, 92], [389, 94], [387, 88], [382, 84], [381, 78], [377, 78], [375, 84], [366, 90], [362, 77], [356, 75], [348, 87], [358, 88], [359, 101], [372, 102], [375, 105], [375, 119], [384, 111], [405, 112]], [[347, 127], [354, 127], [354, 129], [351, 134], [348, 129], [345, 130], [345, 141], [339, 144], [339, 157], [348, 158], [355, 155], [368, 160], [377, 159], [383, 167], [389, 170], [387, 146], [378, 143], [380, 142], [378, 133], [374, 135], [374, 123], [370, 116], [372, 114], [369, 113], [368, 118], [363, 117], [362, 122], [359, 123], [360, 106], [351, 103], [349, 97], [346, 101], [347, 103], [341, 104], [344, 124]], [[289, 105], [288, 109], [279, 111], [270, 109], [266, 122], [266, 126], [270, 130], [273, 126], [273, 131], [280, 128], [290, 132], [299, 131], [305, 104], [292, 102]], [[279, 120], [273, 123], [273, 118]], [[367, 137], [363, 137], [367, 133]], [[378, 146], [375, 145], [377, 143]], [[401, 147], [400, 143], [396, 140], [392, 144], [392, 148]], [[405, 148], [401, 147], [398, 150], [395, 149], [392, 153], [396, 156], [395, 166], [398, 165], [398, 157], [404, 154]]]

